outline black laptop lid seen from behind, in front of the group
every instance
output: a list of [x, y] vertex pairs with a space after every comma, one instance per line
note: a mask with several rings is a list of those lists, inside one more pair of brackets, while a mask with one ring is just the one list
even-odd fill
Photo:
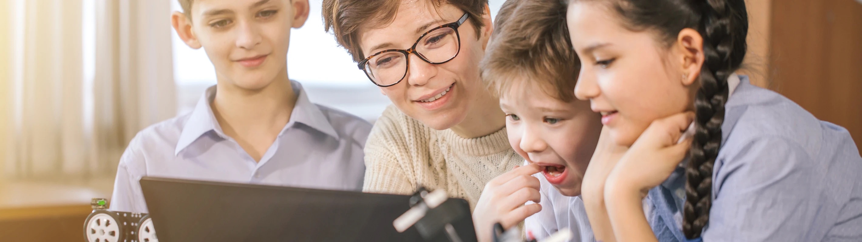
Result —
[[[141, 189], [162, 242], [423, 241], [415, 227], [392, 226], [409, 196], [151, 177]], [[470, 215], [453, 227], [475, 241]]]

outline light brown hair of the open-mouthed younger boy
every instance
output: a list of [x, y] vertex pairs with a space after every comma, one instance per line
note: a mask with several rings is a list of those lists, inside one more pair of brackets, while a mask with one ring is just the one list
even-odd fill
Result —
[[515, 82], [533, 82], [558, 100], [574, 100], [581, 63], [565, 25], [567, 2], [503, 3], [481, 64], [482, 79], [492, 92], [500, 96], [507, 94]]

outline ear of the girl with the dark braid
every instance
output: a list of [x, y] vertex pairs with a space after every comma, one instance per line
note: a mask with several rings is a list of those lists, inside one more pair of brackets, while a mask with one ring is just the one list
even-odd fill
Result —
[[692, 28], [679, 31], [674, 49], [680, 53], [679, 62], [683, 85], [689, 86], [697, 80], [703, 67], [703, 36]]

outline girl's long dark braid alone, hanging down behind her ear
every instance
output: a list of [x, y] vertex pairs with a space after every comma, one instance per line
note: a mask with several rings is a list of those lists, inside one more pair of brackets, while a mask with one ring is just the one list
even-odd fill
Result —
[[[746, 52], [748, 15], [742, 0], [709, 0], [702, 3], [698, 32], [703, 36], [701, 87], [695, 97], [696, 133], [685, 167], [683, 231], [689, 239], [700, 237], [712, 206], [712, 168], [721, 148], [721, 124], [728, 101], [728, 76], [740, 67]], [[740, 34], [741, 33], [741, 34]]]

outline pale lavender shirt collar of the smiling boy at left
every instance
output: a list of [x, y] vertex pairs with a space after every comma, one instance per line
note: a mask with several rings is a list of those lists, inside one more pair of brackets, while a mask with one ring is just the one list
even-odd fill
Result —
[[[308, 95], [305, 94], [302, 84], [291, 80], [290, 86], [293, 88], [293, 92], [297, 94], [297, 103], [294, 104], [293, 111], [290, 112], [290, 121], [287, 125], [284, 125], [281, 134], [284, 134], [284, 131], [288, 130], [294, 124], [299, 123], [338, 139], [338, 132], [329, 123], [329, 118], [323, 114], [320, 107], [311, 103]], [[197, 101], [195, 109], [191, 111], [189, 119], [183, 126], [183, 131], [180, 133], [174, 155], [179, 154], [180, 151], [189, 147], [192, 142], [195, 142], [197, 138], [209, 131], [215, 131], [219, 136], [224, 136], [222, 126], [215, 120], [212, 106], [209, 105], [214, 98], [215, 85], [207, 88], [201, 99]]]

